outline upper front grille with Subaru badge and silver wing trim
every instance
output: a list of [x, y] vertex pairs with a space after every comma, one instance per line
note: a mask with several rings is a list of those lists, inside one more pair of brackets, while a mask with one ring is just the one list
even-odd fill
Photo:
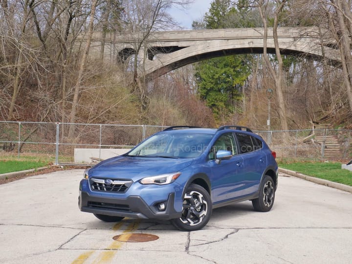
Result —
[[131, 185], [132, 180], [90, 178], [90, 187], [97, 192], [124, 193]]

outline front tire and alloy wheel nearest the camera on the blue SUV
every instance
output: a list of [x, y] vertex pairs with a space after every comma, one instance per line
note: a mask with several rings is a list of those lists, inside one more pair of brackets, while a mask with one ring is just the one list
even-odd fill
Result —
[[191, 184], [183, 197], [182, 216], [171, 220], [182, 231], [195, 231], [203, 228], [212, 213], [209, 193], [197, 184]]

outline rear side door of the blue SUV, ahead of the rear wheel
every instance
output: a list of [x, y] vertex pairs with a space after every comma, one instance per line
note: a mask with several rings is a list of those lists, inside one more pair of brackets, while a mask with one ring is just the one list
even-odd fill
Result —
[[266, 154], [262, 151], [263, 144], [249, 134], [236, 132], [241, 156], [243, 158], [243, 189], [242, 195], [258, 191], [262, 175], [266, 169]]

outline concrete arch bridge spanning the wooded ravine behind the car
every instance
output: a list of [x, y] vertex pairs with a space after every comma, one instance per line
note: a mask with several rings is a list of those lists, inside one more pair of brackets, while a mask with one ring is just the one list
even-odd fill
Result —
[[[264, 28], [228, 28], [152, 32], [143, 42], [141, 34], [119, 35], [114, 39], [108, 36], [105, 53], [115, 49], [118, 59], [126, 62], [136, 54], [136, 45], [143, 43], [138, 54], [138, 71], [153, 79], [204, 59], [263, 53], [263, 35]], [[92, 43], [100, 41], [101, 33], [95, 33]], [[330, 64], [340, 61], [336, 41], [328, 31], [321, 32], [318, 27], [280, 27], [278, 42], [282, 54], [305, 55], [314, 60], [325, 57]], [[267, 53], [275, 53], [272, 28], [268, 28], [266, 43]]]

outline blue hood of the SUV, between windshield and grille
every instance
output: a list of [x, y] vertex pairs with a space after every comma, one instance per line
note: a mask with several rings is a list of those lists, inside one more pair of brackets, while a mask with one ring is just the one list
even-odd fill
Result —
[[123, 178], [137, 181], [146, 176], [179, 172], [193, 159], [118, 156], [100, 162], [89, 169], [91, 177]]

